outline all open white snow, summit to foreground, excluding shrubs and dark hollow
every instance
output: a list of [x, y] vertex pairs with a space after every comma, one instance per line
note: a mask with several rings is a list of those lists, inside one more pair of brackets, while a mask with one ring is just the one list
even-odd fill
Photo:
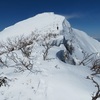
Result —
[[[14, 67], [0, 67], [0, 77], [10, 79], [6, 87], [0, 87], [0, 100], [92, 100], [92, 94], [97, 89], [91, 80], [86, 79], [92, 74], [90, 67], [64, 63], [56, 55], [65, 50], [63, 37], [72, 40], [75, 49], [72, 57], [77, 61], [83, 59], [82, 51], [87, 54], [100, 52], [100, 43], [85, 32], [72, 28], [64, 16], [52, 12], [38, 14], [5, 28], [0, 32], [0, 41], [23, 34], [28, 36], [32, 32], [40, 37], [56, 33], [59, 36], [55, 40], [61, 45], [50, 48], [48, 58], [51, 59], [44, 61], [44, 49], [36, 44], [32, 55], [36, 57], [33, 69], [38, 70], [37, 73], [28, 70], [15, 73]], [[100, 83], [100, 78], [94, 79]]]

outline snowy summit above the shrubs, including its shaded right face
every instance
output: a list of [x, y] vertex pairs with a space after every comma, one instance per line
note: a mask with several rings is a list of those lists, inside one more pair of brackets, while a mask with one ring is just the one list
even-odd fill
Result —
[[83, 59], [83, 53], [91, 54], [93, 52], [100, 52], [100, 43], [97, 40], [91, 38], [83, 31], [72, 28], [64, 16], [54, 13], [38, 14], [5, 28], [0, 32], [0, 40], [21, 35], [28, 36], [32, 32], [40, 35], [49, 33], [58, 34], [59, 36], [55, 38], [58, 44], [61, 44], [60, 42], [62, 42], [63, 39], [65, 39], [66, 42], [69, 41], [72, 43], [75, 49], [73, 58], [78, 60]]

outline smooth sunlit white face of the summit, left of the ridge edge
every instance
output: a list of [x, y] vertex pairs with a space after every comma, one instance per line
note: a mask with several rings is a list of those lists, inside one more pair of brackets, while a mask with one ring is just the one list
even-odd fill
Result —
[[[32, 18], [20, 21], [15, 25], [5, 28], [0, 32], [0, 38], [5, 39], [7, 37], [17, 35], [29, 35], [32, 32], [38, 34], [46, 33], [58, 33], [58, 30], [63, 29], [62, 23], [65, 20], [63, 16], [54, 13], [42, 13]], [[70, 27], [69, 22], [66, 23]], [[1, 39], [0, 39], [1, 40]]]

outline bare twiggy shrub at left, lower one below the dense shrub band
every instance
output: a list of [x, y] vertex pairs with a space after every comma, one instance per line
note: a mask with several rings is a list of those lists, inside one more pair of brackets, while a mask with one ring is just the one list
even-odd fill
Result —
[[7, 54], [6, 56], [10, 62], [13, 62], [12, 67], [16, 67], [20, 70], [20, 72], [24, 71], [25, 69], [31, 71], [33, 67], [33, 59], [27, 58], [27, 57], [20, 57], [17, 53], [11, 52]]

